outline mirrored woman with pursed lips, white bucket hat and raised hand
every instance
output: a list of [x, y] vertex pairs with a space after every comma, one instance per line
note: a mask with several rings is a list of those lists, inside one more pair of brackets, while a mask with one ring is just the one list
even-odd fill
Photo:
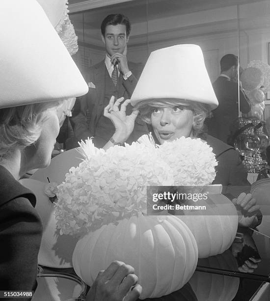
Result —
[[[256, 201], [250, 194], [241, 193], [248, 192], [250, 184], [239, 153], [214, 137], [200, 136], [205, 118], [218, 102], [199, 46], [175, 45], [152, 52], [131, 99], [123, 100], [114, 102], [111, 98], [105, 108], [104, 115], [116, 129], [105, 148], [126, 141], [138, 114], [149, 124], [156, 144], [181, 136], [203, 138], [213, 148], [218, 161], [213, 183], [222, 184], [223, 193], [230, 194], [231, 199], [238, 197], [233, 202], [242, 208], [246, 206], [245, 211], [252, 211], [252, 217], [243, 220], [243, 225], [258, 224], [261, 214], [255, 216], [259, 209]], [[125, 114], [128, 103], [135, 107], [130, 116]]]

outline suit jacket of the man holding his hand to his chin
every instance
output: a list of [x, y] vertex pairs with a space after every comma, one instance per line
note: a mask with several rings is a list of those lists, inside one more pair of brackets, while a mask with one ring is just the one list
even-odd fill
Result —
[[[122, 81], [122, 85], [118, 90], [118, 97], [124, 97], [125, 99], [131, 98], [131, 95], [137, 84], [137, 79], [139, 78], [140, 72], [142, 70], [140, 64], [133, 62], [128, 62], [129, 68], [132, 71], [132, 75], [127, 79]], [[73, 113], [71, 122], [73, 123], [74, 134], [78, 141], [81, 139], [87, 139], [87, 137], [94, 136], [96, 133], [96, 126], [99, 118], [104, 112], [104, 97], [105, 97], [105, 75], [108, 72], [104, 60], [98, 64], [85, 70], [84, 79], [88, 83], [89, 91], [86, 95], [82, 96], [77, 100], [76, 107], [77, 110], [80, 105], [80, 112]], [[122, 77], [120, 74], [119, 79]], [[90, 84], [91, 83], [91, 84]], [[95, 88], [94, 88], [94, 86]], [[91, 88], [91, 86], [93, 88]], [[107, 105], [107, 104], [106, 104]], [[89, 125], [87, 124], [86, 112], [89, 112]], [[127, 115], [132, 112], [132, 106], [127, 107]], [[148, 133], [147, 126], [144, 121], [138, 117], [135, 120], [134, 131], [131, 134], [128, 143], [136, 141], [141, 135]], [[94, 144], [98, 147], [103, 147], [107, 141], [103, 140], [102, 137], [95, 137], [93, 139]]]

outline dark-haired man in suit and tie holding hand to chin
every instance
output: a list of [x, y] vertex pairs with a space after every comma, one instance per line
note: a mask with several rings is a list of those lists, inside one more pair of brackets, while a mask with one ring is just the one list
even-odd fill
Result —
[[[103, 112], [112, 95], [115, 99], [131, 98], [141, 72], [139, 64], [127, 60], [130, 30], [130, 22], [122, 14], [108, 15], [101, 24], [106, 57], [83, 72], [89, 91], [79, 102], [79, 113], [76, 115], [74, 112], [74, 117], [71, 118], [77, 141], [94, 137], [93, 142], [99, 148], [102, 148], [108, 140], [118, 144], [111, 138], [114, 126], [111, 120], [103, 116]], [[131, 111], [132, 107], [128, 105], [127, 113], [130, 114]], [[146, 124], [137, 117], [134, 131], [127, 143], [136, 141], [145, 133], [148, 133]]]

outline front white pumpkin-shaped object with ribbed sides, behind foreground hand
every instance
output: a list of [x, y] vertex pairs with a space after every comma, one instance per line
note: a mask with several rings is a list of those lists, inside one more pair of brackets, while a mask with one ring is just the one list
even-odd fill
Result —
[[179, 218], [138, 213], [118, 225], [110, 223], [89, 232], [73, 252], [74, 270], [90, 286], [114, 260], [135, 268], [141, 299], [156, 298], [189, 281], [197, 265], [197, 244]]

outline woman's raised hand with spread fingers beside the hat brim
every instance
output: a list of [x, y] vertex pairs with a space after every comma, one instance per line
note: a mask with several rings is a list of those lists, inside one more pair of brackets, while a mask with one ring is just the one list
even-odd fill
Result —
[[[104, 116], [110, 119], [115, 127], [113, 138], [119, 143], [124, 143], [133, 132], [135, 119], [138, 111], [135, 110], [131, 115], [126, 115], [126, 109], [130, 103], [130, 99], [125, 100], [124, 97], [118, 98], [114, 102], [114, 96], [111, 96], [108, 106], [104, 109]], [[121, 108], [119, 110], [119, 105]]]

